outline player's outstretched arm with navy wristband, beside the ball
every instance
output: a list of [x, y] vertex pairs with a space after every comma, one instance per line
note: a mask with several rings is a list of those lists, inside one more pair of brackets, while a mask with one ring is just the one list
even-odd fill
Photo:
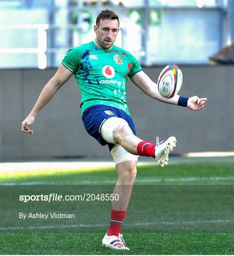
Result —
[[131, 78], [131, 81], [151, 98], [168, 104], [188, 107], [190, 110], [203, 109], [204, 104], [207, 101], [207, 98], [199, 98], [197, 96], [184, 98], [180, 95], [174, 95], [173, 98], [165, 98], [158, 91], [157, 84], [153, 82], [143, 71], [139, 71], [138, 73], [136, 73]]

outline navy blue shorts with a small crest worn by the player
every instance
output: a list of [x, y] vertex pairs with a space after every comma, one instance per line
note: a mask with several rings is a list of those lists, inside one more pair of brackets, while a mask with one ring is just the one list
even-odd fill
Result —
[[82, 115], [82, 121], [87, 130], [87, 133], [94, 137], [102, 146], [108, 145], [110, 151], [114, 144], [106, 142], [101, 134], [99, 133], [99, 128], [104, 119], [111, 117], [119, 117], [126, 120], [132, 130], [136, 135], [136, 129], [131, 117], [123, 110], [113, 108], [106, 105], [94, 105], [84, 111]]

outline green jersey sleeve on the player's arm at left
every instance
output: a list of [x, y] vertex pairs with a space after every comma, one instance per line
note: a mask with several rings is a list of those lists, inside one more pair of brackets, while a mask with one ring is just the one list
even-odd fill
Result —
[[73, 74], [77, 72], [79, 68], [79, 59], [81, 56], [81, 49], [79, 47], [70, 49], [67, 55], [62, 60], [62, 64]]

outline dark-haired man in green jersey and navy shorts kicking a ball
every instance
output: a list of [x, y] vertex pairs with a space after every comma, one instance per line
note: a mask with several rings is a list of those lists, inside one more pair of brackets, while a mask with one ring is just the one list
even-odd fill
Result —
[[36, 115], [74, 74], [81, 92], [84, 126], [102, 146], [108, 145], [118, 173], [113, 193], [119, 195], [119, 200], [112, 201], [110, 228], [102, 243], [113, 249], [129, 250], [121, 235], [121, 226], [137, 173], [138, 157], [151, 156], [161, 166], [167, 165], [168, 154], [176, 139], [169, 137], [164, 143], [159, 143], [157, 137], [154, 144], [136, 136], [126, 100], [127, 78], [148, 96], [190, 110], [201, 110], [207, 99], [179, 95], [171, 99], [162, 97], [157, 84], [142, 71], [137, 59], [113, 45], [119, 32], [119, 18], [113, 11], [103, 10], [97, 16], [94, 32], [94, 41], [68, 51], [57, 72], [44, 86], [34, 108], [22, 122], [21, 130], [33, 134], [30, 126]]

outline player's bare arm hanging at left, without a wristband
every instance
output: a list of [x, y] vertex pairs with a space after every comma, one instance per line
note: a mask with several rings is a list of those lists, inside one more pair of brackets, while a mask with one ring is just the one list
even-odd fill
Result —
[[30, 125], [33, 124], [36, 115], [43, 109], [43, 107], [53, 98], [54, 94], [60, 89], [60, 87], [69, 80], [72, 76], [67, 68], [60, 64], [57, 72], [50, 79], [49, 82], [44, 86], [41, 91], [38, 100], [35, 103], [32, 111], [22, 122], [21, 131], [25, 133], [30, 133], [33, 135], [33, 130], [30, 129]]

